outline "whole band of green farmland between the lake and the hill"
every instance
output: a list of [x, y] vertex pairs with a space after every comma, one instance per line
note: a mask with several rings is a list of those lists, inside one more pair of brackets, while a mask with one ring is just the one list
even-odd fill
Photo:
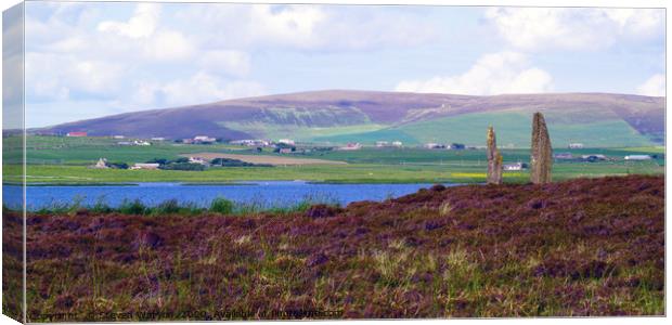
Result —
[[[294, 158], [320, 158], [346, 161], [347, 165], [303, 165], [275, 167], [218, 167], [205, 171], [91, 169], [99, 158], [132, 165], [154, 158], [176, 159], [180, 154], [212, 152], [249, 155], [280, 155], [270, 150], [257, 153], [242, 146], [184, 145], [170, 142], [152, 146], [119, 146], [104, 138], [29, 136], [27, 144], [27, 182], [49, 184], [107, 184], [133, 182], [218, 183], [259, 180], [305, 180], [336, 183], [435, 183], [483, 182], [486, 154], [481, 150], [445, 151], [415, 147], [374, 148], [360, 151], [312, 151], [284, 155]], [[21, 181], [21, 165], [16, 148], [21, 141], [4, 141], [4, 182]], [[661, 147], [556, 150], [574, 156], [603, 154], [612, 160], [599, 162], [561, 161], [554, 164], [554, 179], [578, 177], [623, 176], [632, 173], [663, 173], [664, 155]], [[502, 150], [504, 162], [529, 161], [528, 150]], [[624, 161], [625, 155], [656, 154], [649, 161]], [[17, 156], [17, 157], [13, 157]], [[527, 171], [505, 172], [507, 182], [527, 182]]]

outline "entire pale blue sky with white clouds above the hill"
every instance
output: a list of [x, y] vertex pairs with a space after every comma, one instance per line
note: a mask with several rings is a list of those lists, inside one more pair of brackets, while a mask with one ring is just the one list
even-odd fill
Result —
[[664, 10], [26, 2], [27, 127], [324, 89], [664, 95]]

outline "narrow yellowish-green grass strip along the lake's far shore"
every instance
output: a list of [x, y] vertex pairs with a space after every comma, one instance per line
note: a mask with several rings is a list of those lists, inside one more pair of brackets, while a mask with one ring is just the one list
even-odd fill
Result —
[[[21, 166], [5, 166], [5, 182], [21, 181], [11, 174], [20, 173]], [[556, 164], [554, 179], [565, 180], [578, 177], [624, 176], [633, 173], [662, 173], [664, 167], [652, 164], [610, 165], [600, 164]], [[27, 167], [29, 183], [132, 183], [132, 182], [232, 182], [259, 180], [303, 180], [336, 183], [437, 183], [483, 182], [484, 164], [478, 165], [375, 165], [353, 164], [346, 166], [287, 166], [287, 167], [240, 167], [209, 169], [205, 171], [176, 170], [96, 170], [85, 166], [40, 166]], [[527, 182], [527, 171], [504, 173], [507, 182]]]

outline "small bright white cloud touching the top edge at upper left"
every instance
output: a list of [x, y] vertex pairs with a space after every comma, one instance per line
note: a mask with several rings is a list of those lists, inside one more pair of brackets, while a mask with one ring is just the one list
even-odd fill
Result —
[[145, 38], [154, 34], [159, 15], [159, 4], [139, 3], [128, 22], [105, 21], [98, 25], [98, 30], [113, 31], [130, 38]]

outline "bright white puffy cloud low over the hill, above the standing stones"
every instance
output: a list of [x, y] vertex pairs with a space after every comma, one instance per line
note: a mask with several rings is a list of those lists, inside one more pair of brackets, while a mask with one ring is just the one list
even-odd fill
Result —
[[530, 66], [525, 54], [501, 52], [481, 56], [462, 75], [401, 81], [395, 90], [470, 95], [539, 93], [551, 91], [552, 82], [551, 75]]

